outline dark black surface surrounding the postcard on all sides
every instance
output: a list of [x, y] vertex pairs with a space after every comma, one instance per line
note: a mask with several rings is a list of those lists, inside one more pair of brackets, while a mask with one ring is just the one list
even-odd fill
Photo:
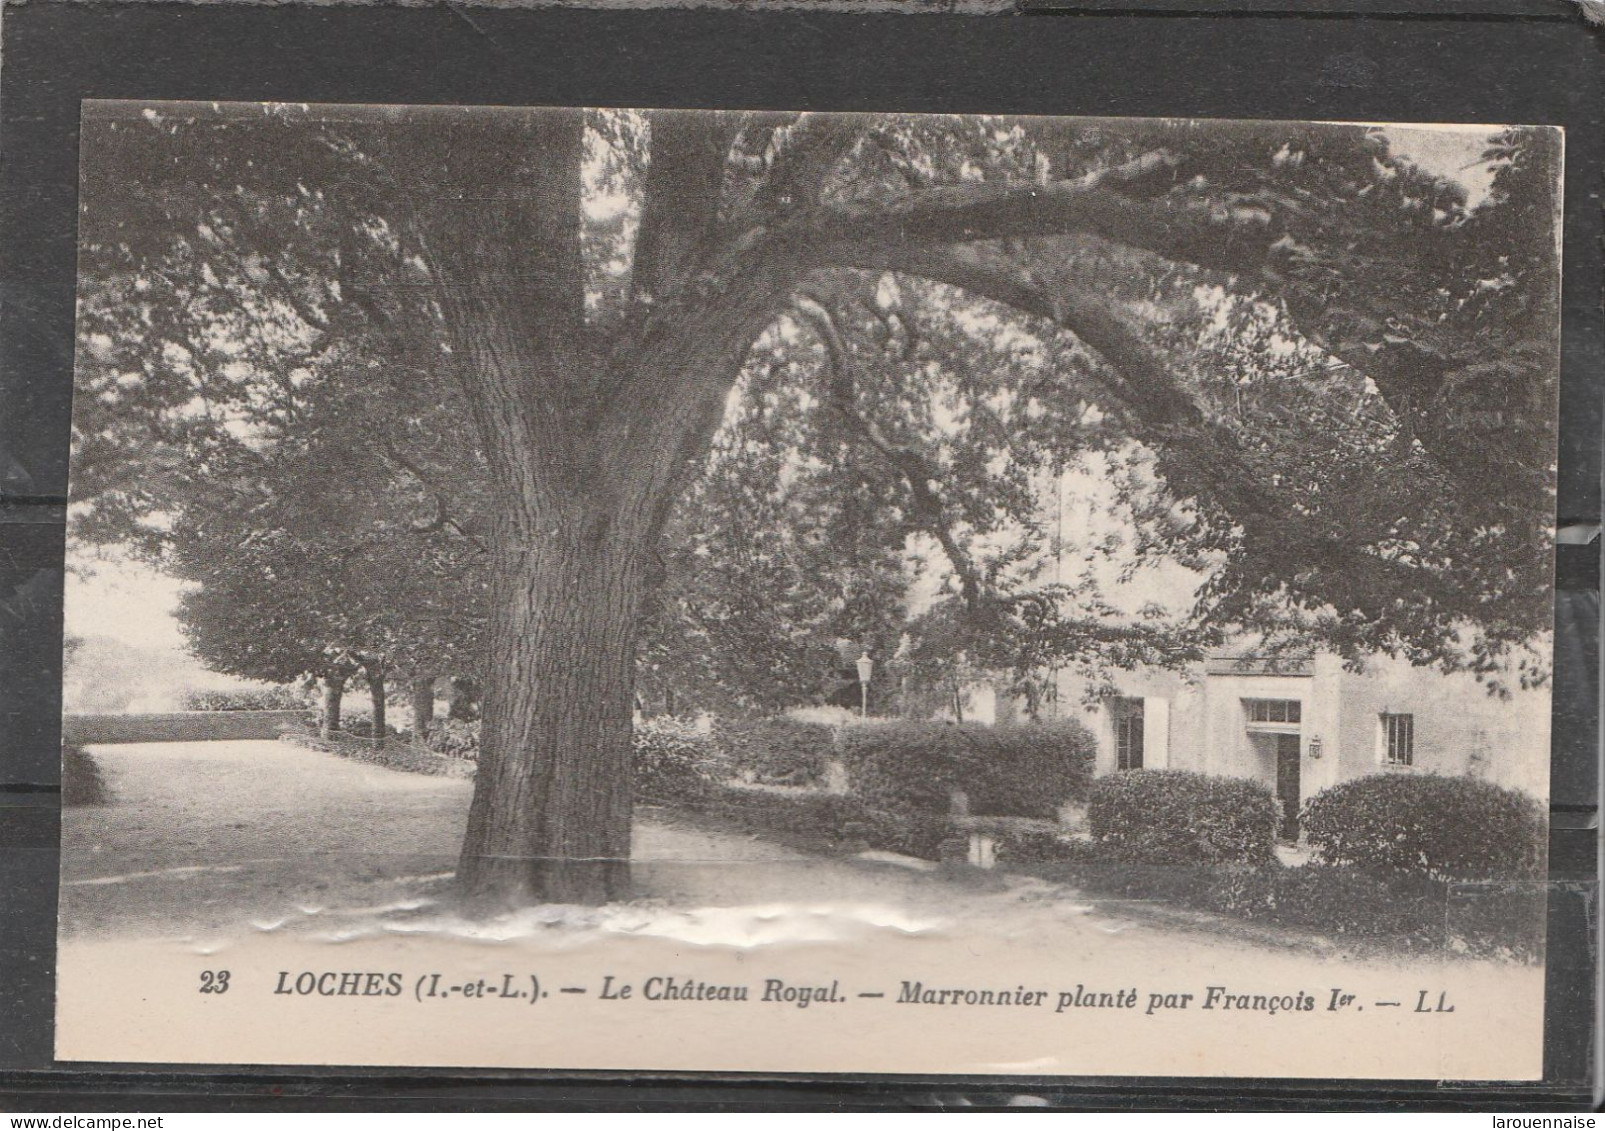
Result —
[[[63, 3], [3, 11], [0, 1107], [756, 1110], [1587, 1105], [1599, 542], [1562, 547], [1546, 1081], [607, 1081], [56, 1065], [61, 566], [82, 98], [729, 106], [1566, 127], [1560, 518], [1600, 513], [1605, 35], [1563, 0], [1024, 0], [989, 16]], [[1499, 1040], [1489, 1033], [1489, 1040]]]

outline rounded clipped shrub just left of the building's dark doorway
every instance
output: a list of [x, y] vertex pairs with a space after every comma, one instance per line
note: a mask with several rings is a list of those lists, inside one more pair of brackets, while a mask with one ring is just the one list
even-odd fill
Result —
[[1087, 825], [1112, 860], [1144, 865], [1266, 863], [1281, 807], [1244, 778], [1130, 770], [1099, 778]]

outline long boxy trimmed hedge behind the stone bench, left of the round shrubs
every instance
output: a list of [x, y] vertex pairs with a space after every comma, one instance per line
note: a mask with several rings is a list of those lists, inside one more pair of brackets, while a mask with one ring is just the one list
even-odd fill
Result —
[[1053, 820], [1059, 805], [1085, 801], [1095, 746], [1075, 722], [896, 722], [849, 727], [841, 749], [854, 793], [872, 807], [947, 813], [963, 789], [971, 813]]

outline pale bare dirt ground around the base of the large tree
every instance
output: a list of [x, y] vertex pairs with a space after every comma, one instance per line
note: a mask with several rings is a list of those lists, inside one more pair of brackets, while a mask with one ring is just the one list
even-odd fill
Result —
[[[66, 810], [64, 938], [193, 938], [241, 927], [337, 938], [414, 930], [514, 937], [557, 921], [600, 926], [597, 916], [607, 916], [610, 929], [685, 940], [722, 930], [725, 942], [748, 943], [770, 930], [811, 929], [801, 919], [835, 916], [910, 932], [971, 921], [1069, 951], [1164, 963], [1225, 948], [1266, 961], [1313, 951], [1364, 958], [1212, 916], [1085, 898], [1037, 879], [953, 876], [876, 853], [812, 855], [650, 809], [636, 823], [632, 903], [531, 908], [486, 927], [456, 916], [449, 902], [470, 781], [276, 741], [117, 744], [91, 754], [109, 804]], [[737, 908], [740, 914], [721, 911]], [[843, 908], [851, 911], [838, 914]]]

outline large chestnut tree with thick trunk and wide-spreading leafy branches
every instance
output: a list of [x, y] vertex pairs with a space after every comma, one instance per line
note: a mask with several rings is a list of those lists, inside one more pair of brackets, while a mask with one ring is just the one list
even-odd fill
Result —
[[1175, 504], [1146, 537], [1215, 555], [1217, 616], [1274, 597], [1347, 650], [1483, 669], [1547, 622], [1552, 132], [1489, 138], [1470, 202], [1351, 125], [104, 104], [83, 128], [85, 536], [160, 542], [228, 452], [302, 443], [308, 385], [453, 390], [459, 470], [438, 420], [409, 448], [417, 412], [366, 443], [427, 502], [406, 525], [483, 547], [470, 895], [628, 890], [642, 618], [782, 319], [809, 411], [944, 549], [971, 626], [1058, 630], [974, 568], [1005, 468], [921, 444], [931, 371], [854, 364], [878, 281], [1064, 347], [966, 367], [1006, 387], [997, 444], [1141, 448]]

